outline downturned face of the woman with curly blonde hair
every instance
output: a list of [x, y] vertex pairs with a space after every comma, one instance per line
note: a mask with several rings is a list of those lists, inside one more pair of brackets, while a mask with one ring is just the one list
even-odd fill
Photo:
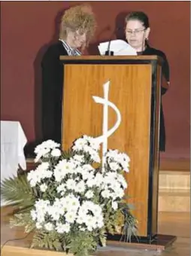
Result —
[[86, 32], [80, 33], [79, 30], [76, 32], [70, 31], [67, 35], [67, 41], [71, 47], [83, 47], [83, 45], [86, 44]]

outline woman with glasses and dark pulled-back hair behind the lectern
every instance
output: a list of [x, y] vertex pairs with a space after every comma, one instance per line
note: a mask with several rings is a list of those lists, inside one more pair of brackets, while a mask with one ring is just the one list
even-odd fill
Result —
[[[137, 50], [138, 55], [157, 55], [162, 57], [162, 75], [165, 78], [167, 85], [170, 84], [170, 72], [168, 60], [161, 50], [156, 50], [148, 44], [150, 35], [149, 19], [146, 14], [141, 11], [130, 13], [126, 17], [126, 40], [128, 43]], [[165, 94], [167, 89], [161, 88], [162, 95]], [[160, 135], [159, 135], [159, 151], [165, 151], [165, 120], [164, 114], [160, 111]]]

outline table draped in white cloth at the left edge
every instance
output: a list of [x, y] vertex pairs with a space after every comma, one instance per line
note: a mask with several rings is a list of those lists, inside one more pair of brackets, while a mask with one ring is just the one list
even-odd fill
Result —
[[[27, 139], [20, 122], [1, 121], [1, 182], [17, 175], [19, 166], [26, 170], [24, 147]], [[5, 205], [1, 198], [1, 206]]]

